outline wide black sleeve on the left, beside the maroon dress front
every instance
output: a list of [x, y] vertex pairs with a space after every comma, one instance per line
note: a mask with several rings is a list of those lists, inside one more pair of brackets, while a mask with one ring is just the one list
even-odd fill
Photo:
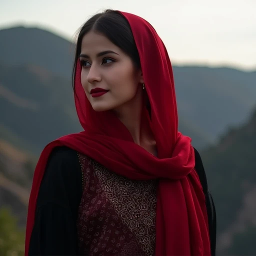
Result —
[[29, 256], [76, 255], [76, 218], [82, 193], [82, 174], [76, 151], [56, 147], [41, 181]]

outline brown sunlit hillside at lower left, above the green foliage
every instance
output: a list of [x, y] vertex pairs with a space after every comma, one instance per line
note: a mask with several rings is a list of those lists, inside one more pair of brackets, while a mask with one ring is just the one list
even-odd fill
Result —
[[0, 207], [7, 206], [26, 223], [31, 179], [36, 158], [0, 139]]

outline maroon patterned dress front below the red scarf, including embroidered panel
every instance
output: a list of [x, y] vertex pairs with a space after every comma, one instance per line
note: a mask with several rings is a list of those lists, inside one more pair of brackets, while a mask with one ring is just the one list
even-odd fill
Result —
[[156, 180], [130, 180], [78, 154], [83, 193], [79, 254], [154, 255]]

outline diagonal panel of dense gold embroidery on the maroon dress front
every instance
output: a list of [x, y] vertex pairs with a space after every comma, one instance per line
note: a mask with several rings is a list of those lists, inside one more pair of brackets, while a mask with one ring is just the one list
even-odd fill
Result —
[[134, 234], [146, 255], [155, 248], [156, 181], [130, 180], [92, 161], [106, 197], [121, 221]]

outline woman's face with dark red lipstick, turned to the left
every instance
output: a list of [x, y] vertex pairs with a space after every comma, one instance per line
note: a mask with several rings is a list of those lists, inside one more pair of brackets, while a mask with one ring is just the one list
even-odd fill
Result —
[[141, 70], [104, 35], [84, 35], [79, 57], [81, 84], [95, 111], [117, 109], [131, 101], [142, 87]]

